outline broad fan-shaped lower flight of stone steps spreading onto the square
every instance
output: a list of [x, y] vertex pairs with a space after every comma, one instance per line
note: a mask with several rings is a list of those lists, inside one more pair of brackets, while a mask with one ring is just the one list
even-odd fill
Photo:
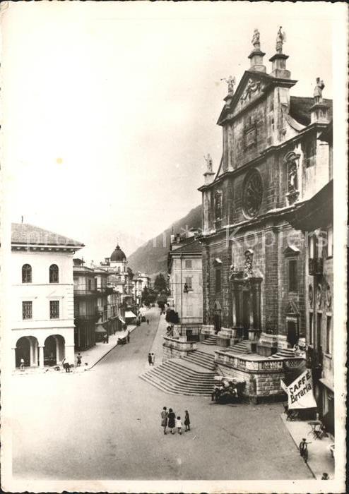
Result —
[[191, 361], [170, 359], [150, 368], [140, 378], [168, 394], [211, 396], [214, 375]]

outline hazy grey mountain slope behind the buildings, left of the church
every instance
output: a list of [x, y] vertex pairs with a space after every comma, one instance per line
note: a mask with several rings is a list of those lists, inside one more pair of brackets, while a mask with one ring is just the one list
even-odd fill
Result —
[[154, 275], [158, 272], [167, 271], [167, 253], [170, 249], [170, 235], [172, 227], [174, 233], [183, 233], [190, 228], [201, 228], [202, 225], [202, 206], [194, 207], [187, 216], [179, 219], [162, 232], [162, 234], [148, 240], [143, 246], [139, 247], [134, 253], [129, 255], [128, 261], [131, 269], [135, 271], [146, 272], [148, 275]]

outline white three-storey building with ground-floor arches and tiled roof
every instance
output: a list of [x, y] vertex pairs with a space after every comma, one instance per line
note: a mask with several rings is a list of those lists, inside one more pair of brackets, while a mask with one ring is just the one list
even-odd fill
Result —
[[13, 366], [74, 362], [73, 254], [83, 243], [30, 224], [12, 224]]

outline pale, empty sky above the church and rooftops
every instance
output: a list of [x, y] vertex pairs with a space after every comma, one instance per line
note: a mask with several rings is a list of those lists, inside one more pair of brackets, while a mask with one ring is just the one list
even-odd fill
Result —
[[[278, 26], [292, 95], [316, 77], [331, 98], [333, 14], [321, 2], [17, 2], [3, 14], [4, 157], [12, 221], [83, 241], [85, 259], [126, 255], [201, 203], [217, 169], [227, 86], [264, 64]], [[345, 16], [345, 11], [343, 11]]]

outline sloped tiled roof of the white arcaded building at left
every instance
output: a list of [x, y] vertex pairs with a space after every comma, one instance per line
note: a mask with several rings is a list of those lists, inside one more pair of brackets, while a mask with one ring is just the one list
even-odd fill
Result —
[[28, 223], [12, 223], [11, 243], [20, 245], [84, 247], [84, 244], [81, 242]]

